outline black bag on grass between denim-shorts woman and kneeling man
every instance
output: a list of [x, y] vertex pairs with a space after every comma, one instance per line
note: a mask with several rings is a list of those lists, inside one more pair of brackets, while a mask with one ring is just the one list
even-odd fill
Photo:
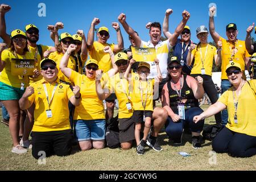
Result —
[[118, 115], [114, 118], [111, 118], [107, 122], [106, 127], [106, 146], [109, 148], [118, 148], [120, 147], [119, 142], [119, 128], [118, 128]]

